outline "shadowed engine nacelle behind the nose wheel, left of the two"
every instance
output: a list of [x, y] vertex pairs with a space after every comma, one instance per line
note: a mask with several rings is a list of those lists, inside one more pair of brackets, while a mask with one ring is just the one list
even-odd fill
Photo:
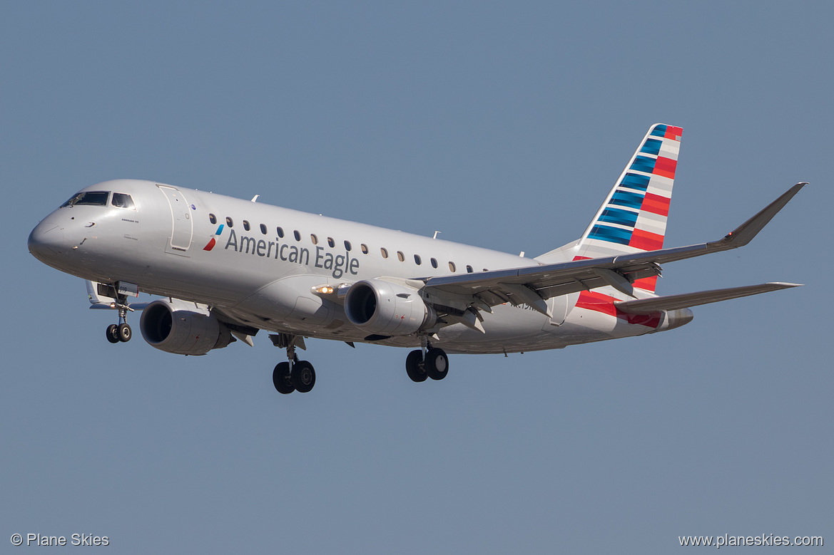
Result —
[[153, 301], [139, 321], [142, 337], [166, 353], [203, 355], [234, 341], [232, 333], [207, 308], [185, 301]]

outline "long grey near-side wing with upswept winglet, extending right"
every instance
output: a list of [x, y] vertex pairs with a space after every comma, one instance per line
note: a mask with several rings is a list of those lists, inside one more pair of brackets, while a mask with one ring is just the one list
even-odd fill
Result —
[[449, 295], [474, 297], [475, 308], [484, 309], [501, 303], [526, 303], [530, 308], [542, 313], [546, 313], [544, 301], [547, 298], [606, 285], [634, 297], [631, 284], [636, 279], [661, 275], [661, 264], [720, 253], [750, 243], [806, 184], [796, 183], [786, 193], [718, 241], [615, 257], [428, 278], [425, 280], [425, 293], [434, 293], [440, 298]]

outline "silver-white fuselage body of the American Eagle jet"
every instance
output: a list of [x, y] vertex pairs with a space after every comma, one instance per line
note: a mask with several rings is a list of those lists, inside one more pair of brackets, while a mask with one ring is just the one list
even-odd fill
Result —
[[[485, 270], [537, 266], [485, 248], [421, 237], [287, 208], [173, 188], [114, 180], [83, 191], [125, 193], [135, 208], [76, 205], [49, 214], [30, 236], [33, 254], [66, 273], [101, 283], [208, 305], [224, 318], [274, 333], [365, 341], [344, 308], [312, 289], [361, 279], [420, 280]], [[222, 227], [221, 227], [222, 226]], [[549, 262], [554, 260], [550, 255]], [[565, 261], [567, 258], [565, 257]], [[596, 289], [622, 298], [612, 288]], [[562, 348], [666, 329], [610, 311], [577, 307], [579, 293], [547, 301], [550, 317], [525, 305], [484, 313], [483, 332], [454, 324], [436, 343], [450, 353]], [[420, 346], [416, 334], [374, 343]]]

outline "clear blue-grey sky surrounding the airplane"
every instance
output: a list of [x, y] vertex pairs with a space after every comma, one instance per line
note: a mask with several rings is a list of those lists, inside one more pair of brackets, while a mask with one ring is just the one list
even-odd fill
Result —
[[[0, 545], [834, 543], [832, 19], [830, 2], [0, 2]], [[206, 357], [110, 345], [115, 316], [26, 248], [79, 188], [146, 178], [544, 253], [655, 122], [684, 128], [668, 246], [811, 182], [746, 248], [667, 265], [659, 293], [805, 287], [670, 333], [453, 356], [443, 382], [411, 383], [405, 350], [309, 340], [314, 392], [280, 396], [265, 334]]]

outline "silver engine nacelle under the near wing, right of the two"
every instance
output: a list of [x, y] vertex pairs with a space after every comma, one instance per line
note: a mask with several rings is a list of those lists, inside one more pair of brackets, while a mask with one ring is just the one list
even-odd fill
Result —
[[437, 322], [435, 310], [412, 288], [381, 279], [364, 279], [344, 297], [350, 323], [377, 335], [410, 335]]

